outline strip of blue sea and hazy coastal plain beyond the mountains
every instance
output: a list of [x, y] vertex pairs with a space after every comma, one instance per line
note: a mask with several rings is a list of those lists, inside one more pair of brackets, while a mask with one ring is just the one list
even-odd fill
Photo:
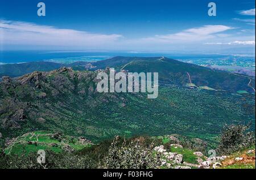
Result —
[[116, 56], [126, 57], [167, 57], [200, 66], [242, 67], [255, 72], [255, 54], [198, 54], [189, 52], [137, 52], [137, 51], [0, 51], [0, 66], [7, 63], [47, 61], [72, 63], [77, 61], [95, 62]]

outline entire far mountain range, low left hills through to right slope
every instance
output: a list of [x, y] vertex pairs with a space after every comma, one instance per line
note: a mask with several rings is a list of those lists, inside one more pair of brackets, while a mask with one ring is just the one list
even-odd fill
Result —
[[179, 85], [189, 88], [207, 88], [215, 91], [240, 91], [255, 93], [255, 78], [221, 70], [197, 66], [165, 57], [114, 57], [98, 62], [75, 62], [60, 64], [32, 62], [0, 66], [0, 75], [20, 76], [34, 71], [50, 71], [60, 67], [73, 70], [97, 70], [113, 67], [129, 72], [158, 72], [162, 84]]

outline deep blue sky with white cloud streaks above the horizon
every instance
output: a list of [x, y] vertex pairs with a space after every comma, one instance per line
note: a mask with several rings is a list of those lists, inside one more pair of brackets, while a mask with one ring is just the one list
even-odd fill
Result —
[[[38, 3], [46, 16], [38, 16]], [[209, 16], [209, 2], [216, 16]], [[0, 50], [255, 48], [254, 0], [0, 0]]]

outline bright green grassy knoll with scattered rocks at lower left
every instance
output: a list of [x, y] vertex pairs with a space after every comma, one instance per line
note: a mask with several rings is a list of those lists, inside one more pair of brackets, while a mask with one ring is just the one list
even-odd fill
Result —
[[75, 138], [60, 132], [35, 131], [28, 132], [6, 143], [6, 155], [21, 155], [22, 153], [37, 153], [39, 149], [60, 153], [73, 152], [90, 147], [92, 142], [83, 137]]

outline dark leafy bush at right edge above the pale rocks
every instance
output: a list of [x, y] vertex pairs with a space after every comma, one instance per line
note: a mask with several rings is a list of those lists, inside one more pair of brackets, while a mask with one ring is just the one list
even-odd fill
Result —
[[247, 131], [249, 127], [250, 125], [224, 126], [217, 153], [220, 155], [229, 155], [230, 153], [249, 148], [255, 144], [254, 133]]

